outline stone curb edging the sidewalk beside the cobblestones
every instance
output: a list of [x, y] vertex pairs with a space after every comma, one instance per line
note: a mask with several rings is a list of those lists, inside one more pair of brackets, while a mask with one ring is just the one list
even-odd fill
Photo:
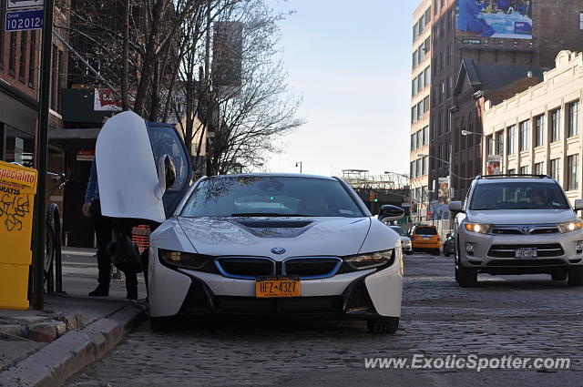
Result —
[[1, 387], [60, 386], [73, 374], [111, 351], [144, 317], [126, 306], [82, 331], [69, 331], [24, 361], [0, 373]]

